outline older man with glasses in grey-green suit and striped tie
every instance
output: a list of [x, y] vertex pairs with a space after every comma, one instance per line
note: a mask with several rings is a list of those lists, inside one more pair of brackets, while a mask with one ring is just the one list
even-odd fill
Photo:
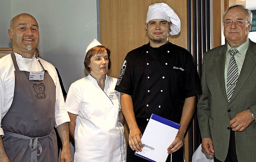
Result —
[[223, 16], [228, 43], [203, 57], [198, 121], [202, 148], [215, 162], [256, 162], [256, 43], [252, 12], [231, 6]]

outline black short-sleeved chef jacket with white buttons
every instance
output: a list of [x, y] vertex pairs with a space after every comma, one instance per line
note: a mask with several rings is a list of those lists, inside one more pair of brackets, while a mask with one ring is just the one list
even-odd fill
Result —
[[202, 93], [191, 53], [169, 41], [157, 48], [148, 43], [130, 51], [115, 90], [132, 96], [142, 133], [152, 113], [180, 123], [184, 100]]

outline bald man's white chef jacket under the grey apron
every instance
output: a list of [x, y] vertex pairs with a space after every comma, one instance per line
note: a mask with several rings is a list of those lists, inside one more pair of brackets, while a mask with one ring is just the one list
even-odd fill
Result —
[[[42, 71], [42, 67], [35, 56], [32, 59], [23, 58], [22, 55], [15, 53], [18, 67], [21, 71]], [[40, 58], [38, 58], [40, 59]], [[44, 66], [44, 69], [48, 71], [54, 84], [56, 85], [56, 103], [55, 103], [55, 121], [56, 127], [64, 122], [70, 122], [68, 112], [66, 111], [66, 105], [62, 95], [60, 82], [55, 67], [43, 59], [40, 62]], [[0, 114], [1, 120], [4, 115], [10, 109], [14, 96], [14, 65], [11, 55], [6, 55], [0, 59]], [[0, 128], [0, 135], [4, 135], [3, 129]]]

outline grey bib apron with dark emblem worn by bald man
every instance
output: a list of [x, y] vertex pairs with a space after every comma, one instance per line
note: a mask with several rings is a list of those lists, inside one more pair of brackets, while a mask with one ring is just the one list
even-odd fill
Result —
[[57, 162], [54, 82], [39, 60], [44, 80], [29, 81], [30, 72], [20, 71], [14, 52], [11, 56], [14, 97], [1, 122], [6, 154], [10, 162]]

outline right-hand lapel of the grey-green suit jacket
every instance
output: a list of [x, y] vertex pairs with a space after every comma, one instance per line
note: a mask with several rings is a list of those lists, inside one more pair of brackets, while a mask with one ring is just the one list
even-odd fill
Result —
[[256, 63], [256, 44], [250, 41], [249, 47], [246, 51], [246, 55], [244, 58], [244, 63], [243, 63], [240, 75], [238, 77], [238, 81], [236, 83], [236, 87], [230, 99], [230, 103], [236, 97], [239, 91], [242, 89], [244, 83], [246, 82], [249, 75], [251, 74], [255, 63]]

